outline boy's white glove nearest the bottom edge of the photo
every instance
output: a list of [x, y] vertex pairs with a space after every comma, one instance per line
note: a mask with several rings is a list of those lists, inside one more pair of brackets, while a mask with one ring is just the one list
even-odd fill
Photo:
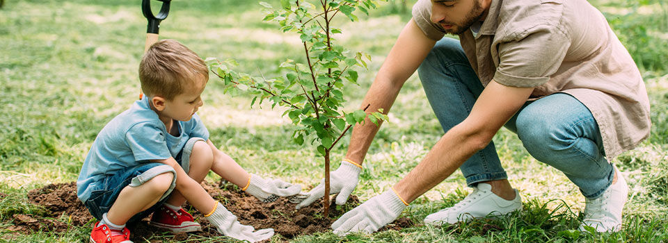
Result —
[[273, 228], [265, 228], [255, 231], [253, 226], [247, 226], [239, 223], [237, 216], [232, 215], [223, 204], [218, 203], [216, 210], [207, 216], [209, 222], [218, 229], [218, 232], [237, 240], [248, 240], [249, 242], [259, 242], [267, 240], [273, 235]]

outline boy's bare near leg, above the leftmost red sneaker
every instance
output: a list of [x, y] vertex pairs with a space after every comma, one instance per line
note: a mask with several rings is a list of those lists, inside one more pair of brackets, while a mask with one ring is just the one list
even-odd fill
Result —
[[118, 194], [106, 217], [112, 224], [123, 225], [132, 216], [147, 210], [167, 192], [172, 185], [174, 175], [171, 172], [159, 174], [138, 187], [126, 186]]

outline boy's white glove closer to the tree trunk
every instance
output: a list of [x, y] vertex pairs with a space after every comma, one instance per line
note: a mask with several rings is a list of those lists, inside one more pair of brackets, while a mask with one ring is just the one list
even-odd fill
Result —
[[278, 179], [265, 179], [256, 174], [250, 174], [248, 180], [248, 187], [244, 191], [264, 203], [276, 201], [279, 196], [294, 196], [301, 192], [301, 185], [292, 185]]

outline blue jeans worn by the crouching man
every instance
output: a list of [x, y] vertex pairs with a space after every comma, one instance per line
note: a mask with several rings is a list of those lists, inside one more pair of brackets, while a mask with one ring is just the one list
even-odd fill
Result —
[[[468, 117], [484, 90], [459, 40], [446, 37], [436, 42], [418, 73], [446, 132]], [[531, 156], [564, 172], [587, 198], [601, 196], [612, 184], [614, 169], [605, 159], [596, 119], [571, 95], [555, 93], [527, 101], [505, 127], [518, 135]], [[507, 178], [493, 142], [460, 169], [470, 186]]]

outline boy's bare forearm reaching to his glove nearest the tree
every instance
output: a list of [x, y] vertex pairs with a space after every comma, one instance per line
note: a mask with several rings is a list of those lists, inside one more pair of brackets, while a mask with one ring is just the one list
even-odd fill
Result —
[[250, 174], [244, 168], [241, 168], [241, 165], [237, 164], [230, 156], [218, 150], [211, 140], [207, 140], [207, 144], [209, 144], [209, 148], [211, 148], [214, 155], [211, 170], [234, 185], [245, 187], [248, 184]]

